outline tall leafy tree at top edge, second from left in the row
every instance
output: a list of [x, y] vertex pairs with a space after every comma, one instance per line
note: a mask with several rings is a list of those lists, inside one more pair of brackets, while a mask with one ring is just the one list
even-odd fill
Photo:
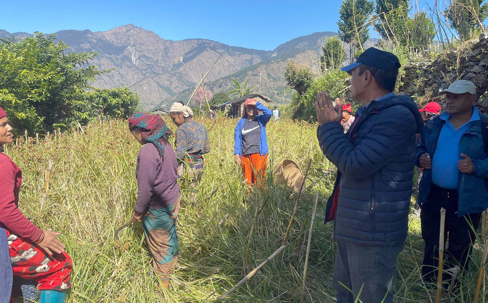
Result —
[[374, 27], [378, 34], [388, 41], [399, 41], [406, 33], [408, 0], [376, 0], [376, 22]]

